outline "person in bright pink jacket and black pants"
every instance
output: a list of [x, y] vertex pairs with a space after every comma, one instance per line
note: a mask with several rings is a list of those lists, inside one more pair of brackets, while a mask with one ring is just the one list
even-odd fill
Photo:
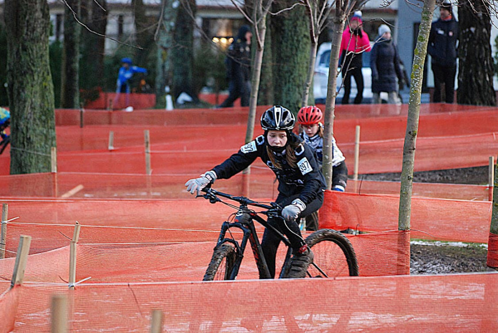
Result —
[[351, 93], [351, 77], [355, 78], [358, 93], [355, 98], [355, 104], [361, 104], [363, 100], [363, 75], [362, 75], [362, 55], [363, 52], [370, 52], [369, 36], [362, 27], [362, 12], [355, 11], [349, 21], [349, 26], [344, 30], [339, 51], [339, 66], [342, 68], [344, 97], [342, 104], [349, 104], [349, 95]]

